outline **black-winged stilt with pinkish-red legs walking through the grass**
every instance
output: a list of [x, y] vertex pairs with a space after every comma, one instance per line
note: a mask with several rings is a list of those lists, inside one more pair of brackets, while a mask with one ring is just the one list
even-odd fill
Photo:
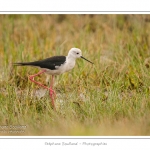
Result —
[[[76, 58], [82, 58], [90, 63], [91, 61], [87, 60], [82, 56], [82, 52], [78, 48], [71, 48], [67, 56], [53, 56], [50, 58], [46, 58], [44, 60], [34, 61], [34, 62], [19, 62], [14, 63], [17, 66], [34, 66], [38, 67], [41, 71], [37, 74], [30, 75], [29, 79], [38, 84], [39, 86], [48, 89], [50, 92], [50, 98], [52, 99], [52, 106], [55, 108], [54, 97], [56, 96], [53, 90], [54, 76], [70, 71], [75, 66]], [[93, 63], [92, 63], [93, 64]], [[35, 76], [38, 76], [42, 73], [47, 73], [52, 75], [52, 81], [50, 88], [44, 86], [43, 84], [34, 80]]]

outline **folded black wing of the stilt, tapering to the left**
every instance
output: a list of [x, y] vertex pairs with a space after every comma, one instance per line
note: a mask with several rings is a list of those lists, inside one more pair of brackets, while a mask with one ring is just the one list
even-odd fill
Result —
[[54, 57], [50, 57], [50, 58], [46, 58], [46, 59], [34, 61], [34, 62], [14, 63], [14, 65], [36, 66], [40, 68], [47, 68], [50, 70], [55, 70], [57, 69], [56, 66], [61, 66], [62, 64], [65, 63], [65, 61], [66, 61], [66, 56], [54, 56]]

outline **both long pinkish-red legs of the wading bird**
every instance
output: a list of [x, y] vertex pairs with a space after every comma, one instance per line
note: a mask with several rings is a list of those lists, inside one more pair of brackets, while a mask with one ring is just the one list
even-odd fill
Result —
[[34, 75], [30, 75], [30, 76], [29, 76], [29, 79], [30, 79], [30, 81], [32, 81], [32, 82], [38, 84], [39, 86], [41, 86], [41, 87], [43, 87], [43, 88], [49, 90], [49, 92], [50, 92], [50, 97], [51, 97], [51, 99], [52, 99], [52, 106], [55, 108], [54, 98], [53, 98], [53, 94], [55, 95], [55, 92], [54, 92], [54, 90], [52, 89], [52, 87], [53, 87], [53, 76], [52, 76], [52, 82], [51, 82], [50, 88], [48, 88], [48, 87], [46, 87], [45, 85], [43, 85], [43, 84], [41, 84], [41, 83], [39, 83], [39, 82], [37, 82], [37, 81], [34, 80], [34, 77], [36, 77], [36, 76], [38, 76], [38, 75], [40, 75], [40, 74], [42, 74], [42, 73], [44, 73], [44, 72], [46, 72], [46, 70], [40, 71], [39, 73], [34, 74]]

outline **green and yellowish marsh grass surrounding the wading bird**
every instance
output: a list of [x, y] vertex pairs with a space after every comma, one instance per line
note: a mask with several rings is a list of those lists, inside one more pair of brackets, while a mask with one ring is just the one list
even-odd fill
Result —
[[[149, 15], [0, 15], [1, 135], [150, 135]], [[48, 92], [31, 83], [32, 67], [13, 62], [67, 55], [77, 60], [56, 78], [56, 111]], [[36, 78], [46, 82], [46, 76]], [[0, 129], [1, 129], [0, 128]]]

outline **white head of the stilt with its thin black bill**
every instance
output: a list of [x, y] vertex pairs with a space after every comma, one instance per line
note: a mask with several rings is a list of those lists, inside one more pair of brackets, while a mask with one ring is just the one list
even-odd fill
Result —
[[68, 53], [68, 57], [69, 58], [73, 58], [73, 59], [82, 58], [82, 59], [84, 59], [84, 60], [92, 63], [91, 61], [87, 60], [86, 58], [84, 58], [82, 56], [82, 51], [79, 48], [71, 48], [70, 51], [69, 51], [69, 53]]

